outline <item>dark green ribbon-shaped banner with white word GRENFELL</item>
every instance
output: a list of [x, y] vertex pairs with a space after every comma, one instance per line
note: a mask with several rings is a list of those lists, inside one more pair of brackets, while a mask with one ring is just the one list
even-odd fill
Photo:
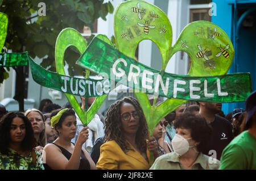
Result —
[[105, 74], [135, 92], [205, 102], [242, 102], [251, 92], [250, 73], [214, 77], [170, 74], [145, 66], [94, 37], [76, 64]]

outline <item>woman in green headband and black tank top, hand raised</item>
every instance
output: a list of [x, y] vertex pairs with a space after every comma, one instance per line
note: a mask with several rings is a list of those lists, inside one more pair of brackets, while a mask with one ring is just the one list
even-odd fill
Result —
[[73, 145], [71, 140], [76, 134], [75, 111], [65, 108], [51, 114], [51, 126], [58, 138], [44, 147], [43, 161], [45, 169], [89, 170], [96, 169], [95, 163], [82, 144], [88, 139], [88, 127], [82, 128]]

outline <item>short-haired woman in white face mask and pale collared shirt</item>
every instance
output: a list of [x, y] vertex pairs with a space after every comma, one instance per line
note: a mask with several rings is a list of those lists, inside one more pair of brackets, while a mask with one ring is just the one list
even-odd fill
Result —
[[203, 154], [208, 149], [211, 128], [201, 116], [183, 113], [174, 122], [176, 134], [172, 139], [174, 152], [158, 157], [150, 169], [212, 170], [218, 169], [220, 161]]

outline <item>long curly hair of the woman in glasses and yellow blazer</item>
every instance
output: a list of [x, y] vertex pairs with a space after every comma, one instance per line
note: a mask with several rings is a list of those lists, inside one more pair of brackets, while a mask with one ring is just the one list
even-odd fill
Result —
[[146, 118], [143, 114], [141, 106], [138, 103], [138, 100], [130, 96], [114, 102], [106, 113], [104, 137], [105, 142], [114, 140], [121, 147], [123, 152], [126, 153], [128, 150], [130, 150], [126, 142], [125, 135], [122, 131], [121, 106], [123, 103], [130, 103], [134, 106], [135, 110], [141, 112], [141, 118], [139, 119], [139, 129], [136, 133], [135, 143], [138, 146], [139, 151], [145, 152], [147, 149], [146, 140], [148, 139], [148, 127]]

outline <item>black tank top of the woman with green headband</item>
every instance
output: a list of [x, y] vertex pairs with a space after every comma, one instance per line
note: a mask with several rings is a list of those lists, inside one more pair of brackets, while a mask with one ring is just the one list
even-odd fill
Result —
[[[54, 142], [52, 142], [51, 144], [56, 145]], [[59, 145], [56, 145], [56, 146], [61, 150], [61, 153], [68, 160], [71, 158], [72, 154], [68, 150], [64, 149], [63, 147], [61, 147]], [[44, 169], [52, 170], [51, 167], [49, 167], [46, 163], [44, 163]], [[79, 170], [90, 170], [90, 163], [89, 163], [88, 159], [85, 157], [84, 151], [81, 151]]]

